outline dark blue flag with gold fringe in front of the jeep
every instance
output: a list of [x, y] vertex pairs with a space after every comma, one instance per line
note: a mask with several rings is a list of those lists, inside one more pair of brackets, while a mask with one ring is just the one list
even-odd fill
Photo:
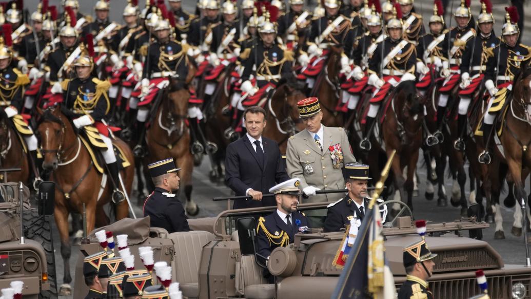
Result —
[[[395, 297], [395, 281], [386, 264], [382, 220], [377, 204], [365, 214], [332, 298]], [[343, 246], [343, 244], [342, 244]], [[348, 246], [348, 243], [345, 245]], [[345, 255], [345, 253], [343, 254]]]

